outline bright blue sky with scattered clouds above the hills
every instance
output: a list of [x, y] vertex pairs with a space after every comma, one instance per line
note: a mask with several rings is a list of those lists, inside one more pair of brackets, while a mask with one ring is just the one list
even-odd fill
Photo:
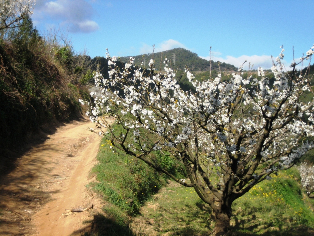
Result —
[[41, 32], [68, 31], [74, 50], [85, 48], [91, 57], [105, 56], [106, 48], [111, 56], [152, 53], [155, 45], [209, 59], [212, 47], [214, 61], [269, 69], [279, 46], [289, 66], [292, 47], [298, 61], [314, 43], [312, 0], [37, 0], [32, 19]]

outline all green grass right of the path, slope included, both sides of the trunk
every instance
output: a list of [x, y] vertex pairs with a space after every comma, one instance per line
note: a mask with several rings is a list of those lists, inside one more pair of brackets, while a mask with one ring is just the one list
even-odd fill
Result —
[[[182, 166], [160, 152], [152, 159], [178, 177]], [[208, 235], [211, 209], [192, 188], [185, 188], [132, 156], [113, 152], [104, 139], [91, 186], [110, 202], [95, 218], [94, 235]], [[166, 182], [169, 182], [166, 186]], [[254, 186], [232, 205], [232, 235], [314, 235], [314, 200], [300, 188], [296, 168]], [[165, 187], [164, 187], [165, 186]], [[135, 223], [134, 223], [135, 222]], [[137, 232], [135, 232], [137, 231]], [[106, 232], [105, 234], [103, 232]]]

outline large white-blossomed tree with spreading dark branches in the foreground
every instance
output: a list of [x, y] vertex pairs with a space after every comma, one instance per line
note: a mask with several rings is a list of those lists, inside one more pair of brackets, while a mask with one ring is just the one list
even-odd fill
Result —
[[[301, 61], [310, 59], [313, 49]], [[296, 63], [291, 73], [285, 72], [283, 51], [273, 62], [273, 82], [261, 68], [257, 78], [243, 78], [240, 68], [230, 80], [218, 75], [204, 81], [194, 80], [186, 69], [195, 93], [179, 87], [167, 59], [164, 71], [157, 72], [153, 60], [144, 69], [133, 65], [131, 57], [119, 68], [116, 57], [107, 53], [109, 78], [95, 74], [102, 95], [87, 115], [100, 135], [108, 128], [115, 149], [194, 188], [216, 216], [214, 233], [223, 235], [235, 199], [278, 170], [290, 168], [314, 147], [314, 100], [300, 99], [313, 91], [305, 76], [296, 76]], [[104, 114], [116, 117], [116, 123], [109, 125]], [[130, 135], [133, 143], [127, 142]], [[151, 160], [148, 154], [154, 150], [180, 161], [187, 180]]]

